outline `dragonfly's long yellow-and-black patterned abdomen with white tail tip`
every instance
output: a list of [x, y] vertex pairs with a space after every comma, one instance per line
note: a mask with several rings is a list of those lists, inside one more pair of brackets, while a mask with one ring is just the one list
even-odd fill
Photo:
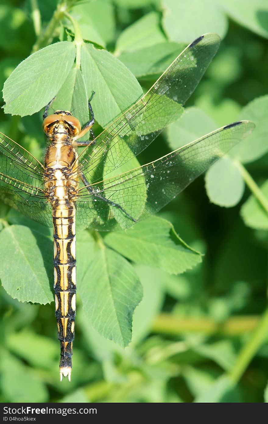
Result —
[[58, 339], [61, 342], [60, 377], [70, 380], [72, 343], [75, 337], [75, 207], [58, 200], [53, 207], [54, 226], [54, 290]]

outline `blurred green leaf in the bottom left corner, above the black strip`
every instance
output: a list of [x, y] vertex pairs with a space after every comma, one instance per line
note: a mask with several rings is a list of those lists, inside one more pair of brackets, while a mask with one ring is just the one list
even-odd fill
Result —
[[47, 402], [45, 385], [13, 355], [1, 350], [1, 389], [8, 402]]

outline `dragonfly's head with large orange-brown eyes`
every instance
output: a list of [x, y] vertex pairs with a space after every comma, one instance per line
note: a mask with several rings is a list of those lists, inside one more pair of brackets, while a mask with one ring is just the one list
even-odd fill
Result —
[[81, 124], [77, 118], [72, 116], [71, 112], [56, 110], [55, 114], [49, 115], [44, 119], [43, 130], [51, 138], [56, 133], [63, 133], [73, 137], [80, 133]]

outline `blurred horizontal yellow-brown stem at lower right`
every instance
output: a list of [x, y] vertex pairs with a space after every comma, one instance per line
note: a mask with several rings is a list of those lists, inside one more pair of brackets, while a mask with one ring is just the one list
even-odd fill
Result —
[[209, 335], [220, 333], [235, 336], [255, 329], [259, 321], [257, 315], [228, 318], [225, 322], [219, 323], [210, 318], [176, 318], [171, 314], [162, 313], [155, 319], [152, 331], [171, 335], [202, 332]]

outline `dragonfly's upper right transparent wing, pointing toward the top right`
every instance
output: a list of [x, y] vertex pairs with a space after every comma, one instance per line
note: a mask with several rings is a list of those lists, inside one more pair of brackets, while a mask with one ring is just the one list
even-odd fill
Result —
[[[78, 161], [81, 174], [91, 183], [104, 179], [128, 162], [178, 118], [182, 104], [191, 96], [213, 56], [220, 38], [208, 33], [191, 43], [173, 61], [151, 89], [86, 147]], [[112, 154], [108, 154], [113, 147]], [[118, 157], [120, 152], [120, 158]]]

